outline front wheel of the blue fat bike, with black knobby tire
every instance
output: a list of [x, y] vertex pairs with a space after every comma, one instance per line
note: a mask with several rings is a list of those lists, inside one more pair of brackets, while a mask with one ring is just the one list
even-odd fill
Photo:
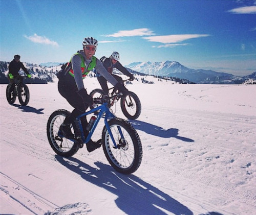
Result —
[[106, 159], [116, 171], [122, 174], [134, 173], [142, 160], [142, 146], [137, 131], [120, 118], [112, 118], [109, 126], [117, 147], [105, 126], [102, 131], [102, 147]]

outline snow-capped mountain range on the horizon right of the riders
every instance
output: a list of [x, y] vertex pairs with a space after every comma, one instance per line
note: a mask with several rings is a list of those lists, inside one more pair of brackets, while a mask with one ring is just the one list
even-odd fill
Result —
[[176, 61], [137, 62], [126, 65], [126, 67], [147, 75], [176, 77], [199, 84], [241, 84], [245, 80], [252, 78], [247, 76], [238, 77], [213, 70], [190, 69]]

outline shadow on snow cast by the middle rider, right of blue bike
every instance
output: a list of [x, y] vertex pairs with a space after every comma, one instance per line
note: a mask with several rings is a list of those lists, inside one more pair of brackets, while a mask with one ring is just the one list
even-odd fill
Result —
[[174, 137], [185, 142], [194, 142], [193, 139], [178, 136], [179, 129], [177, 128], [169, 128], [166, 130], [166, 129], [163, 129], [162, 127], [159, 127], [150, 123], [145, 123], [139, 120], [129, 120], [129, 122], [133, 125], [133, 127], [136, 130], [144, 131], [147, 134], [152, 134], [154, 136], [159, 136], [163, 138]]

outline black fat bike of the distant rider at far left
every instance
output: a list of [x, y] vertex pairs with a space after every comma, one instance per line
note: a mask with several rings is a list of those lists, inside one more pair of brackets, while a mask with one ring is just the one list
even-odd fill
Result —
[[8, 84], [6, 88], [6, 98], [9, 104], [13, 104], [18, 97], [20, 105], [26, 106], [29, 103], [29, 88], [23, 83], [23, 79], [26, 76], [20, 76], [14, 78], [13, 84]]

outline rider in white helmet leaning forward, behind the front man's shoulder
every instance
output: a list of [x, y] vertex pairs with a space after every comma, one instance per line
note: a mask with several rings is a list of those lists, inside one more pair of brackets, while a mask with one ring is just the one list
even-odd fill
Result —
[[[120, 59], [119, 53], [118, 52], [113, 52], [112, 55], [109, 58], [103, 58], [102, 59], [102, 64], [105, 67], [105, 69], [108, 70], [108, 72], [110, 74], [113, 73], [114, 68], [117, 68], [119, 71], [121, 71], [122, 74], [130, 77], [130, 80], [133, 81], [134, 76], [131, 73], [129, 73], [129, 71], [125, 67], [122, 66], [122, 64], [119, 62], [119, 59]], [[98, 73], [98, 71], [97, 71], [97, 73]], [[123, 84], [121, 77], [119, 77], [117, 75], [112, 75], [112, 76], [114, 76], [115, 79], [120, 84]], [[108, 95], [109, 94], [109, 87], [108, 87], [108, 84], [106, 83], [106, 79], [103, 76], [99, 75], [98, 76], [98, 81], [99, 81], [99, 84], [100, 84], [100, 86], [103, 90], [103, 93], [105, 95]]]

